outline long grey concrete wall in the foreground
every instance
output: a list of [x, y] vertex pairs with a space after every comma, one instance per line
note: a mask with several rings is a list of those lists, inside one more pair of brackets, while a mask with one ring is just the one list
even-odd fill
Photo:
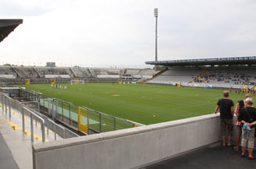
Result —
[[220, 140], [219, 114], [33, 146], [34, 168], [137, 168]]

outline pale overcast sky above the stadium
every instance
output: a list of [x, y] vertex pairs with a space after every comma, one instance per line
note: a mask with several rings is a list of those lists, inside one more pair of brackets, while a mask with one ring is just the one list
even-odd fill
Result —
[[255, 0], [1, 0], [0, 65], [148, 67], [155, 8], [158, 61], [256, 55]]

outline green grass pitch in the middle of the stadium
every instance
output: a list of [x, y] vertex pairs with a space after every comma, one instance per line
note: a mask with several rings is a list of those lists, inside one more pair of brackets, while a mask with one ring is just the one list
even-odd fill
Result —
[[[22, 85], [29, 90], [85, 106], [119, 118], [144, 125], [203, 114], [212, 114], [222, 91], [195, 87], [176, 87], [148, 84], [86, 83], [65, 84], [67, 90], [50, 84]], [[236, 104], [244, 94], [230, 94]], [[254, 97], [255, 99], [255, 97]], [[155, 115], [155, 117], [154, 117]]]

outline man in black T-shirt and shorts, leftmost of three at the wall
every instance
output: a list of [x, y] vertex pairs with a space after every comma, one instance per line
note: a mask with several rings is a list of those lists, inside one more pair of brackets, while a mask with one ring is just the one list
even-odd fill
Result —
[[229, 99], [229, 91], [223, 92], [223, 97], [215, 107], [215, 114], [220, 111], [220, 128], [222, 132], [222, 146], [226, 146], [226, 127], [228, 128], [228, 146], [231, 146], [231, 138], [233, 132], [233, 100]]

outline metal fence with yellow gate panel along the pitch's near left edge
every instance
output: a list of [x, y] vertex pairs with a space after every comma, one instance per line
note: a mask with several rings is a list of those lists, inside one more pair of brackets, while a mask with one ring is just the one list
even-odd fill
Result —
[[[119, 129], [128, 129], [141, 126], [134, 121], [123, 118], [116, 118], [112, 115], [95, 111], [88, 107], [80, 107], [76, 104], [48, 97], [24, 88], [19, 90], [6, 91], [12, 97], [30, 104], [30, 107], [46, 114], [53, 121], [60, 121], [62, 124], [87, 134], [110, 132]], [[34, 103], [34, 104], [33, 104]]]

